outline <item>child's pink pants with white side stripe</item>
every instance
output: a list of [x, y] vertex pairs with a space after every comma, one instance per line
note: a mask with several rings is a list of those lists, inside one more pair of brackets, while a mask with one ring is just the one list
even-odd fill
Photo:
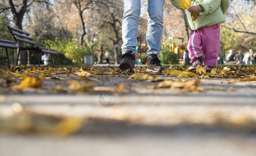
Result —
[[220, 53], [220, 31], [220, 24], [191, 31], [187, 45], [189, 58], [195, 59], [204, 56], [203, 63], [205, 65], [216, 66]]

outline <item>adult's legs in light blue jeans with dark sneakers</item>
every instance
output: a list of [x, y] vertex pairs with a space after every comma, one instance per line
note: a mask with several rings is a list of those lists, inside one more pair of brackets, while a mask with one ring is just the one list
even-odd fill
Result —
[[[122, 46], [122, 60], [119, 68], [133, 69], [135, 66], [135, 55], [138, 32], [138, 22], [140, 17], [140, 0], [123, 0], [124, 1], [124, 18], [123, 18], [123, 46]], [[164, 68], [158, 59], [161, 52], [161, 37], [163, 33], [163, 6], [165, 0], [149, 0], [148, 1], [148, 31], [147, 43], [149, 50], [148, 56], [148, 70], [161, 72]]]

